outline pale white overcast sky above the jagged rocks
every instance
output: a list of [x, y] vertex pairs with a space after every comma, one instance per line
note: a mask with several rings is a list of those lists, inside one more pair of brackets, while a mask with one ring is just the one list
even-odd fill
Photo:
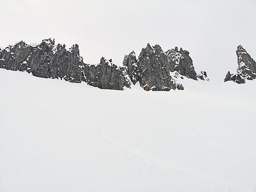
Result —
[[78, 44], [85, 62], [117, 65], [149, 42], [190, 52], [196, 70], [223, 81], [238, 45], [256, 59], [256, 0], [0, 0], [0, 46], [55, 38]]

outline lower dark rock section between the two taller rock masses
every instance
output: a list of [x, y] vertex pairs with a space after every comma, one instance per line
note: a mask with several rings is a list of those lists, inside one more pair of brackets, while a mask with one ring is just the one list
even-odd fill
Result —
[[123, 90], [131, 88], [126, 67], [117, 67], [112, 60], [100, 59], [99, 65], [84, 65], [83, 81], [100, 89]]

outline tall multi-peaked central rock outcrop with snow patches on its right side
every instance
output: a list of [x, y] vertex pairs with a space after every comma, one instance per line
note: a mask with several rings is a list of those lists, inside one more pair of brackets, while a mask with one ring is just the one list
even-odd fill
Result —
[[[178, 76], [185, 76], [198, 80], [193, 61], [188, 51], [180, 51], [177, 47], [163, 52], [159, 45], [151, 47], [147, 44], [146, 48], [136, 58], [131, 52], [124, 56], [123, 65], [127, 67], [127, 73], [133, 84], [139, 81], [140, 86], [146, 91], [169, 91], [170, 89], [183, 90], [181, 83], [177, 82]], [[174, 76], [173, 72], [176, 72]], [[202, 80], [209, 80], [206, 72], [200, 76]], [[183, 77], [182, 77], [183, 78]]]

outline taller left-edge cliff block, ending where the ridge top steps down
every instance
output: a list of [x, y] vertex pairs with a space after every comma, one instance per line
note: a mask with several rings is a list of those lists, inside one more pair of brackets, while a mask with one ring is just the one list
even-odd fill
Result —
[[65, 45], [55, 46], [54, 40], [46, 39], [33, 48], [20, 41], [1, 52], [0, 68], [31, 72], [34, 76], [60, 78], [81, 82], [82, 57], [78, 45], [70, 50]]

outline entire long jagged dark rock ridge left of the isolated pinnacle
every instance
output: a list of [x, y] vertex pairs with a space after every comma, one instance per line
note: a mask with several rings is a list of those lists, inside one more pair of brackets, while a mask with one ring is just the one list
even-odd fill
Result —
[[183, 90], [178, 82], [180, 78], [209, 80], [205, 71], [195, 72], [189, 52], [182, 48], [163, 52], [159, 45], [152, 47], [147, 44], [138, 58], [134, 51], [125, 55], [123, 66], [117, 66], [104, 57], [98, 65], [88, 65], [83, 62], [78, 45], [66, 49], [65, 45], [55, 45], [51, 38], [42, 40], [37, 46], [20, 41], [0, 49], [0, 68], [27, 71], [37, 77], [76, 83], [84, 81], [90, 86], [111, 90], [131, 88], [131, 84], [137, 82], [145, 91]]

